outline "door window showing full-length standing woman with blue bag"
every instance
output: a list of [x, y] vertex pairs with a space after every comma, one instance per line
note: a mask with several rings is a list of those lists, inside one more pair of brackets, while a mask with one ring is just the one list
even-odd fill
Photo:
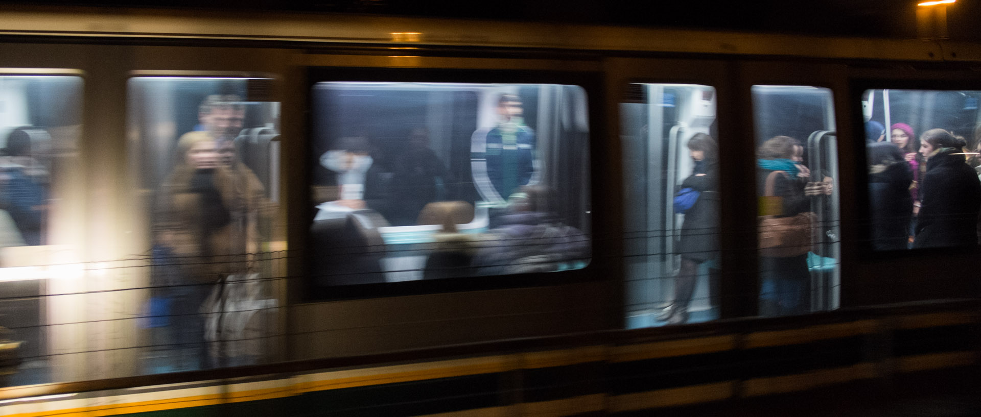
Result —
[[630, 84], [620, 104], [627, 326], [718, 317], [715, 89]]

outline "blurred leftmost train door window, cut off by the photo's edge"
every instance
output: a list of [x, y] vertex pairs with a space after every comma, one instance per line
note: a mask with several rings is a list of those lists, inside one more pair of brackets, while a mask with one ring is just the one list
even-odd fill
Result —
[[77, 255], [81, 97], [80, 76], [0, 74], [0, 386], [53, 378], [41, 296]]

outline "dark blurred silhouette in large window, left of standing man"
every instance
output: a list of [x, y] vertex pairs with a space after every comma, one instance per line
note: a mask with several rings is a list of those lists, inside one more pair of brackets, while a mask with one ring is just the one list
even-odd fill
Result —
[[429, 131], [412, 129], [408, 146], [392, 170], [391, 194], [398, 204], [391, 208], [391, 224], [416, 224], [419, 212], [427, 204], [444, 199], [445, 178], [446, 168], [429, 148]]

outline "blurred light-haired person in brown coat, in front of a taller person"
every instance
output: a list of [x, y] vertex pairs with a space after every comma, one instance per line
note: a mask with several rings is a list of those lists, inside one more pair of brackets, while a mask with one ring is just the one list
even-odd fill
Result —
[[[209, 367], [204, 348], [204, 317], [200, 314], [213, 285], [232, 273], [248, 270], [245, 254], [254, 250], [257, 208], [250, 196], [254, 184], [239, 183], [223, 166], [208, 132], [190, 132], [178, 143], [177, 166], [159, 193], [157, 241], [181, 264], [174, 302], [174, 327], [181, 343], [193, 347], [201, 367]], [[261, 192], [258, 193], [261, 195]]]

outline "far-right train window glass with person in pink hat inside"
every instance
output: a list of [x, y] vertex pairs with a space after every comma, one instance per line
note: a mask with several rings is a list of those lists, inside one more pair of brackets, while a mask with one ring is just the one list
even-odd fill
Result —
[[864, 92], [873, 250], [977, 244], [979, 99], [981, 91]]

